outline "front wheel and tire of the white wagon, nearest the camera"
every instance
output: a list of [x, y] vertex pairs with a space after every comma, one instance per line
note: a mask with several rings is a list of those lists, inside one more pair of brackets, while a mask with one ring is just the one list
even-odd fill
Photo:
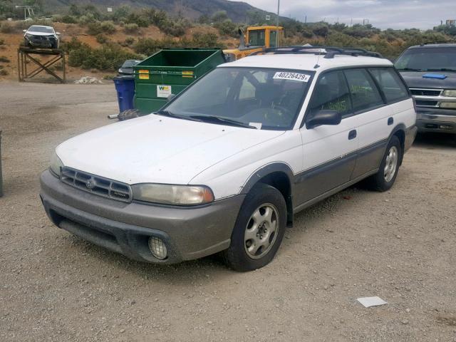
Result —
[[256, 185], [244, 199], [231, 237], [222, 252], [235, 271], [259, 269], [274, 258], [286, 229], [284, 196], [270, 185]]

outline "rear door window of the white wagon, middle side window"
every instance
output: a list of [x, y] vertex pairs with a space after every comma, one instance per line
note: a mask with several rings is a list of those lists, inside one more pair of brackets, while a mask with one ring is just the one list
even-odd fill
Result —
[[344, 73], [355, 112], [369, 110], [384, 104], [377, 86], [365, 69], [351, 69]]

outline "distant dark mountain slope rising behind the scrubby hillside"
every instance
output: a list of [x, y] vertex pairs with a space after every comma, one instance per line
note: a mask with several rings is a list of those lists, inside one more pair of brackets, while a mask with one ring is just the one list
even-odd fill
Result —
[[64, 10], [70, 4], [93, 4], [100, 10], [106, 11], [106, 7], [128, 5], [133, 8], [152, 7], [162, 9], [171, 15], [181, 14], [189, 19], [197, 19], [199, 16], [206, 14], [211, 16], [216, 11], [227, 11], [229, 19], [234, 22], [247, 21], [247, 11], [257, 11], [261, 15], [271, 14], [269, 12], [257, 9], [242, 1], [228, 0], [92, 0], [92, 1], [71, 1], [71, 0], [48, 0], [45, 2], [46, 9]]

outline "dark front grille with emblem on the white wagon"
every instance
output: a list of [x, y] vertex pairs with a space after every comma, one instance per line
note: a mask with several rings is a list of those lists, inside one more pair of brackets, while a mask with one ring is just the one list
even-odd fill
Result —
[[62, 167], [60, 178], [65, 184], [98, 196], [121, 202], [131, 202], [133, 199], [130, 185], [75, 170], [71, 167]]

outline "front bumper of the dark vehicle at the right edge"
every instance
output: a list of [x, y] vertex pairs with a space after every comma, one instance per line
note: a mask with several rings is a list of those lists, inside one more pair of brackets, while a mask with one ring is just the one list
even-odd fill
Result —
[[456, 110], [418, 108], [416, 125], [419, 132], [456, 134]]

